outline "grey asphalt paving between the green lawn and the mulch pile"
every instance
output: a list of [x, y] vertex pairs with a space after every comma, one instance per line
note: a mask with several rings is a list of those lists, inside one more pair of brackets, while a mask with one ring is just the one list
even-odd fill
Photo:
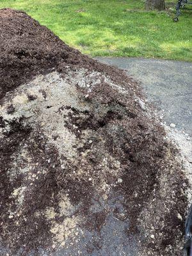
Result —
[[143, 58], [96, 58], [127, 71], [169, 125], [192, 135], [192, 63]]

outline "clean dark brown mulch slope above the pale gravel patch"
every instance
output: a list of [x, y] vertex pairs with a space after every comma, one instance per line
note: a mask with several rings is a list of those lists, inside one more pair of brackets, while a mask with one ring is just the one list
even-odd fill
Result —
[[52, 31], [24, 12], [0, 10], [0, 24], [0, 99], [37, 74], [52, 70], [65, 74], [66, 65], [106, 72], [112, 79], [118, 79], [118, 83], [127, 81], [123, 72], [64, 44]]

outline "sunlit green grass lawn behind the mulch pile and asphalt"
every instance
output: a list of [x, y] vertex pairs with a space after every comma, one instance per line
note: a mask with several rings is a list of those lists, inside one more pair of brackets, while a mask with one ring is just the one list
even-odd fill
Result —
[[91, 56], [192, 61], [192, 10], [175, 23], [176, 2], [166, 12], [146, 12], [143, 0], [0, 0], [0, 8], [24, 10]]

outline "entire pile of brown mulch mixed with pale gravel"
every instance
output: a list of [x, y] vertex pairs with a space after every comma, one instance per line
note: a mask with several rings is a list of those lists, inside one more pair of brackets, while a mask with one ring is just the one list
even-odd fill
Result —
[[0, 33], [1, 255], [68, 250], [110, 216], [136, 255], [182, 255], [188, 179], [140, 86], [24, 12], [0, 10]]

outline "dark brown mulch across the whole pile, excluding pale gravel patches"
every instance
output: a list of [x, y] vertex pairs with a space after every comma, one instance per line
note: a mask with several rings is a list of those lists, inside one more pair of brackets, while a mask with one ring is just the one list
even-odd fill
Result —
[[[63, 107], [63, 109], [70, 108], [66, 127], [74, 132], [78, 140], [81, 140], [83, 132], [87, 130], [91, 130], [97, 137], [94, 141], [97, 154], [86, 141], [79, 149], [77, 163], [68, 163], [65, 168], [67, 173], [73, 173], [81, 166], [86, 172], [86, 164], [81, 165], [81, 159], [83, 153], [90, 150], [84, 161], [92, 166], [94, 172], [99, 172], [100, 144], [98, 141], [100, 136], [105, 138], [106, 152], [117, 159], [122, 166], [122, 182], [116, 186], [115, 190], [121, 191], [125, 196], [125, 207], [127, 207], [128, 218], [131, 220], [131, 227], [127, 233], [140, 234], [142, 228], [150, 229], [151, 222], [155, 227], [155, 234], [161, 234], [161, 236], [158, 237], [156, 243], [152, 243], [150, 239], [141, 242], [143, 243], [141, 245], [152, 253], [148, 253], [148, 255], [181, 255], [182, 252], [177, 248], [177, 243], [183, 239], [184, 218], [180, 220], [177, 216], [179, 213], [184, 217], [187, 204], [184, 194], [180, 193], [180, 189], [182, 191], [185, 189], [182, 185], [184, 175], [180, 165], [175, 161], [174, 155], [177, 154], [177, 150], [164, 140], [163, 128], [156, 124], [154, 119], [147, 117], [145, 111], [136, 104], [134, 96], [140, 97], [141, 95], [139, 86], [124, 72], [102, 65], [68, 47], [49, 29], [40, 26], [36, 20], [24, 12], [10, 9], [0, 10], [0, 35], [2, 105], [7, 92], [15, 90], [20, 84], [27, 83], [38, 74], [47, 74], [54, 70], [63, 77], [67, 76], [69, 69], [74, 72], [79, 68], [86, 68], [88, 72], [97, 71], [110, 77], [113, 83], [122, 86], [129, 92], [124, 95], [105, 83], [95, 86], [86, 101], [94, 108], [99, 105], [104, 108], [107, 106], [109, 108], [107, 113], [98, 114], [94, 112], [94, 108], [92, 108], [92, 112], [83, 113], [70, 108], [70, 106]], [[86, 89], [79, 89], [79, 95], [82, 97], [86, 93]], [[29, 100], [35, 100], [32, 96], [30, 95]], [[14, 106], [10, 105], [7, 113], [12, 114], [13, 112]], [[6, 122], [8, 121], [0, 116], [2, 131], [6, 127]], [[42, 211], [47, 207], [54, 207], [57, 211], [57, 195], [61, 189], [68, 191], [73, 204], [81, 202], [84, 205], [82, 214], [85, 216], [94, 191], [94, 188], [90, 187], [90, 183], [84, 180], [79, 184], [67, 180], [66, 172], [60, 168], [60, 156], [56, 148], [52, 146], [47, 150], [46, 140], [42, 139], [38, 132], [33, 131], [30, 125], [26, 126], [23, 123], [22, 118], [11, 122], [9, 131], [3, 131], [3, 140], [0, 146], [0, 241], [4, 246], [10, 248], [12, 255], [22, 246], [23, 253], [27, 253], [38, 246], [47, 246], [50, 243], [49, 223], [44, 220], [43, 216], [36, 217], [35, 212]], [[109, 127], [111, 124], [116, 125], [116, 129], [111, 130]], [[80, 134], [76, 130], [73, 131], [74, 127], [77, 127]], [[33, 143], [26, 142], [29, 136], [33, 138]], [[12, 209], [15, 207], [11, 195], [13, 189], [19, 188], [24, 177], [10, 181], [9, 173], [13, 164], [12, 156], [17, 152], [17, 145], [22, 141], [28, 144], [34, 163], [38, 162], [38, 170], [45, 169], [47, 174], [40, 177], [36, 183], [36, 190], [26, 198], [24, 212], [22, 212], [22, 216], [18, 216], [20, 225], [16, 227], [15, 222], [13, 223], [13, 220], [7, 217], [7, 212], [8, 209], [11, 209], [10, 205], [12, 205]], [[54, 168], [47, 164], [49, 158], [51, 163], [54, 163]], [[55, 166], [58, 166], [58, 170]], [[110, 179], [113, 182], [112, 177], [106, 179], [108, 182]], [[163, 193], [161, 191], [163, 187], [161, 179], [169, 182], [168, 195], [166, 191]], [[166, 211], [161, 212], [161, 208], [158, 208], [161, 205], [159, 202], [166, 205], [164, 208]], [[24, 219], [21, 220], [23, 216]], [[148, 220], [147, 216], [150, 216], [151, 220]], [[100, 223], [97, 220], [95, 228], [98, 229], [103, 223], [103, 220], [100, 220]], [[141, 248], [144, 248], [142, 246]], [[165, 249], [166, 253], [164, 253]]]

